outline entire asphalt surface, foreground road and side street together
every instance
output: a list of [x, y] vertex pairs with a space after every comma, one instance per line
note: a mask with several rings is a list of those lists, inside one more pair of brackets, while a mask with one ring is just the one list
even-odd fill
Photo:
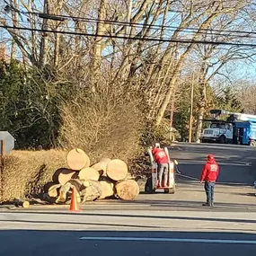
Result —
[[[76, 214], [67, 207], [0, 208], [0, 255], [255, 256], [255, 148], [178, 144], [170, 152], [182, 172], [174, 195], [95, 202]], [[201, 206], [207, 154], [221, 167], [214, 208]]]

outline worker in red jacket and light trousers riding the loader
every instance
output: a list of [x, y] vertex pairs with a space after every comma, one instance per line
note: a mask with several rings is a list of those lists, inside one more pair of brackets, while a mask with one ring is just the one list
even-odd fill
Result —
[[158, 165], [158, 185], [159, 187], [162, 187], [163, 178], [163, 187], [167, 187], [169, 157], [164, 149], [160, 147], [159, 143], [155, 143], [152, 154], [154, 155], [154, 161]]

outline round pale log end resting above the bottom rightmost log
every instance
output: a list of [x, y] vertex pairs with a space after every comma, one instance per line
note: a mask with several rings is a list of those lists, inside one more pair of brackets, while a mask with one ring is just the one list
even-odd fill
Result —
[[107, 175], [113, 181], [124, 180], [128, 175], [128, 165], [119, 159], [111, 160], [107, 164]]

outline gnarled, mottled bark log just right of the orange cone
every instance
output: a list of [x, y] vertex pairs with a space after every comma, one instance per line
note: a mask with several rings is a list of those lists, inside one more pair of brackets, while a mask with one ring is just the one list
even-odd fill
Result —
[[84, 181], [85, 189], [80, 192], [82, 202], [94, 201], [102, 196], [102, 185], [99, 181]]

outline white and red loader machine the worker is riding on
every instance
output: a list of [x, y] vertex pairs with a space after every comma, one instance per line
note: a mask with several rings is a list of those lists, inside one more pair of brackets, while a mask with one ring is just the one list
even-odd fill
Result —
[[159, 184], [159, 182], [158, 182], [158, 172], [157, 172], [158, 165], [157, 165], [157, 163], [154, 162], [152, 148], [150, 148], [150, 149], [148, 149], [148, 154], [150, 156], [152, 172], [151, 172], [151, 177], [149, 177], [147, 179], [146, 185], [145, 185], [145, 191], [147, 193], [154, 193], [155, 190], [163, 190], [164, 193], [171, 193], [171, 194], [174, 194], [174, 192], [175, 192], [175, 174], [174, 174], [174, 172], [175, 172], [175, 164], [178, 164], [178, 162], [175, 160], [174, 160], [174, 162], [172, 162], [170, 160], [170, 156], [169, 156], [167, 147], [164, 147], [164, 151], [168, 155], [168, 158], [169, 158], [167, 187], [163, 187], [163, 184]]

